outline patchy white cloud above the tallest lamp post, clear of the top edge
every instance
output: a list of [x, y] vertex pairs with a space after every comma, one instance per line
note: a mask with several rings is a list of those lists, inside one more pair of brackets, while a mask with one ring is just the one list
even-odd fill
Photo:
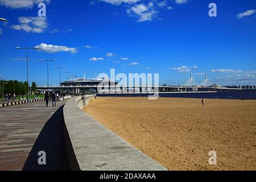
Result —
[[20, 24], [11, 26], [15, 30], [23, 30], [32, 33], [42, 33], [48, 27], [47, 18], [44, 17], [27, 17], [21, 16], [18, 18]]

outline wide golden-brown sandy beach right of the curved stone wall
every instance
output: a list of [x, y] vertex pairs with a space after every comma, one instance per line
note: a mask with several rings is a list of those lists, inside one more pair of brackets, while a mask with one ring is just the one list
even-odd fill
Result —
[[[84, 111], [170, 170], [256, 170], [256, 101], [97, 98]], [[217, 152], [217, 165], [208, 163]]]

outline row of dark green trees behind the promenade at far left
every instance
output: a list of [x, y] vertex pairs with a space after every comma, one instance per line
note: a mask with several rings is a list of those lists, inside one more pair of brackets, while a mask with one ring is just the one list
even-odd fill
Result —
[[[6, 94], [16, 94], [16, 96], [24, 96], [27, 94], [27, 81], [20, 82], [18, 80], [0, 80], [0, 87], [1, 96], [5, 96]], [[36, 93], [36, 82], [32, 82], [30, 92]]]

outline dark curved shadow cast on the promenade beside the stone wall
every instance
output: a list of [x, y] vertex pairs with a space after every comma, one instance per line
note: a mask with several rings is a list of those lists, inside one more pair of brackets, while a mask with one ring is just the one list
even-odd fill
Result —
[[[69, 170], [67, 149], [64, 140], [63, 107], [61, 106], [44, 125], [28, 158], [23, 171]], [[39, 151], [46, 152], [46, 165], [39, 165]]]

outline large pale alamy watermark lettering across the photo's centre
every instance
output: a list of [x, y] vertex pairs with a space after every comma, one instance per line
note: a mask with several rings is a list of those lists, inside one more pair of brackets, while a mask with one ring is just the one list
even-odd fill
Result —
[[146, 93], [149, 100], [159, 97], [159, 73], [125, 73], [115, 74], [115, 69], [97, 76], [101, 83], [97, 86], [98, 93]]

